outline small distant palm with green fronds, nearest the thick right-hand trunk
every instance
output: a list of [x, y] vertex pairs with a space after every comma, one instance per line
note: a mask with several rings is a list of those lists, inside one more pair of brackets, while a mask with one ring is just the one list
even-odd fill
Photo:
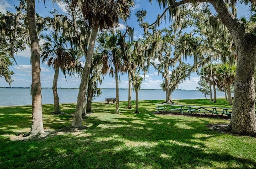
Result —
[[224, 64], [218, 67], [217, 73], [218, 73], [218, 78], [224, 84], [224, 86], [226, 86], [228, 90], [228, 103], [229, 105], [232, 105], [230, 85], [233, 84], [235, 81], [236, 67], [229, 66], [228, 64]]

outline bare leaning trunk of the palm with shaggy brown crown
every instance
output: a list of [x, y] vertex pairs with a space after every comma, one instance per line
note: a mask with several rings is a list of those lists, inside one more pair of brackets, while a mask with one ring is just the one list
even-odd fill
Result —
[[84, 98], [86, 96], [86, 87], [88, 85], [90, 67], [92, 63], [92, 54], [94, 51], [94, 45], [95, 45], [97, 33], [98, 33], [98, 26], [94, 26], [92, 28], [92, 34], [89, 42], [88, 51], [86, 54], [84, 70], [82, 73], [81, 83], [79, 86], [79, 92], [78, 92], [77, 103], [76, 103], [76, 111], [75, 111], [74, 118], [71, 125], [72, 127], [82, 127], [82, 111], [83, 111], [83, 105], [84, 105]]

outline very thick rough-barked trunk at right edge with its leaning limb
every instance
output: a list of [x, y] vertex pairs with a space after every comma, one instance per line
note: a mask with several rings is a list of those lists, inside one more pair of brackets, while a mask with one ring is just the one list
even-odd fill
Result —
[[234, 83], [234, 104], [228, 129], [234, 134], [255, 136], [255, 35], [245, 32], [244, 24], [231, 15], [224, 1], [211, 0], [209, 2], [214, 6], [222, 22], [230, 31], [236, 45], [237, 67]]

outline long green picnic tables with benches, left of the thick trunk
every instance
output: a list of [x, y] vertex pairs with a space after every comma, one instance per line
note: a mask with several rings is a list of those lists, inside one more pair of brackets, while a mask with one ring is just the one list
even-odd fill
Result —
[[[177, 105], [177, 104], [156, 104], [157, 113], [162, 111], [173, 111], [190, 113], [211, 113], [216, 114], [219, 117], [219, 114], [226, 114], [229, 118], [231, 117], [232, 108], [219, 108], [219, 107], [208, 107], [208, 106], [192, 106], [192, 105]], [[231, 110], [231, 111], [230, 111]]]

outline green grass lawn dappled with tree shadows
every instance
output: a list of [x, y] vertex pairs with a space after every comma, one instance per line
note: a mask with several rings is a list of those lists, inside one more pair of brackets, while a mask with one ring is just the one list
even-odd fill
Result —
[[[256, 168], [256, 138], [207, 128], [229, 120], [157, 115], [155, 104], [140, 101], [140, 114], [115, 104], [93, 103], [83, 129], [70, 128], [75, 104], [62, 104], [54, 115], [43, 105], [45, 138], [27, 138], [31, 106], [0, 107], [0, 168], [230, 169]], [[218, 99], [175, 100], [178, 104], [230, 107]], [[134, 107], [133, 102], [133, 107]]]

